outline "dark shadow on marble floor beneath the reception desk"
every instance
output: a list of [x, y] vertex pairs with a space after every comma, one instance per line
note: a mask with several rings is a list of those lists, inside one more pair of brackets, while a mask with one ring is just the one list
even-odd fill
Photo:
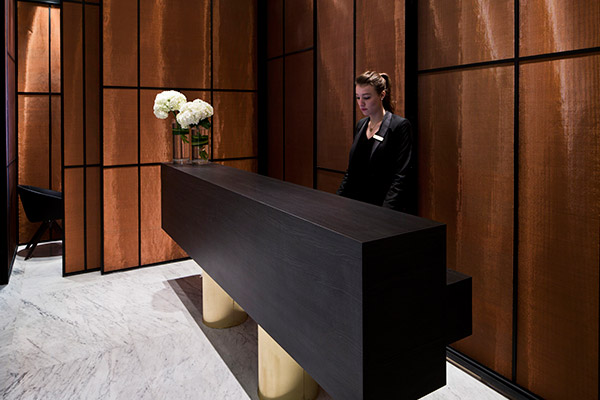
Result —
[[[233, 328], [209, 328], [202, 323], [202, 277], [194, 275], [168, 282], [244, 391], [252, 400], [258, 400], [256, 322], [252, 318], [248, 318], [246, 322]], [[323, 389], [320, 389], [316, 400], [333, 399]]]

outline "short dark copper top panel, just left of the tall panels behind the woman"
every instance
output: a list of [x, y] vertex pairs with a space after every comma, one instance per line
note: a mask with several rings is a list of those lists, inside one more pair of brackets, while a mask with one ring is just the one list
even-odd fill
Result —
[[312, 47], [313, 0], [284, 0], [285, 53]]

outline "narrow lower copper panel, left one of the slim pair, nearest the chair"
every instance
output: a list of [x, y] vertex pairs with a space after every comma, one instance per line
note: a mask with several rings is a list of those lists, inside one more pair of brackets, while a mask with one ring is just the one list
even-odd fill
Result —
[[83, 168], [65, 169], [64, 267], [65, 272], [85, 270]]

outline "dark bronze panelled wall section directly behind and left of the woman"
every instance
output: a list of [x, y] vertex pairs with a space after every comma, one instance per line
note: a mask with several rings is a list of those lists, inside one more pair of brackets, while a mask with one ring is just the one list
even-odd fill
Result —
[[354, 78], [389, 73], [404, 113], [404, 4], [267, 2], [268, 174], [335, 192], [348, 163]]

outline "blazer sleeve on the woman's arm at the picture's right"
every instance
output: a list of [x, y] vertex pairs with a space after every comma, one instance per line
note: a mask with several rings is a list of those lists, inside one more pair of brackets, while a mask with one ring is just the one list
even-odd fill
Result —
[[412, 167], [412, 128], [407, 119], [402, 119], [394, 132], [399, 140], [397, 142], [397, 151], [394, 152], [393, 177], [390, 188], [388, 189], [383, 207], [391, 208], [397, 211], [407, 211], [410, 207], [410, 183], [409, 174]]

